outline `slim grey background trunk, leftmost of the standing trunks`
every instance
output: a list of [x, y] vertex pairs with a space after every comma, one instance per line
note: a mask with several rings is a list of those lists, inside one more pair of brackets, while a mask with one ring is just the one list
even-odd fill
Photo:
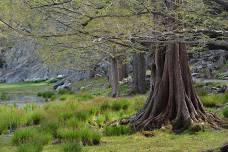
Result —
[[110, 84], [112, 86], [112, 97], [118, 96], [118, 69], [117, 59], [111, 58]]

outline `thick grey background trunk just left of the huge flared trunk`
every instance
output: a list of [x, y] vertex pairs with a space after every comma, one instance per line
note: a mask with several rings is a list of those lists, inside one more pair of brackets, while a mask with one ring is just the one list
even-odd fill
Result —
[[133, 56], [133, 93], [146, 92], [146, 63], [144, 53]]

